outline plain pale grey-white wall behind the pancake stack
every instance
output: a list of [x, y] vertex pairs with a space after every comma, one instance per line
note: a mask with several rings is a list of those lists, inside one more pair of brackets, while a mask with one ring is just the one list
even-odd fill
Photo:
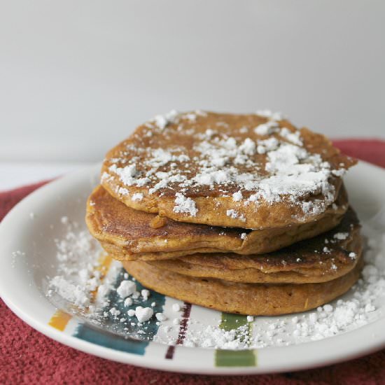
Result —
[[0, 160], [95, 161], [156, 113], [385, 137], [385, 1], [0, 1]]

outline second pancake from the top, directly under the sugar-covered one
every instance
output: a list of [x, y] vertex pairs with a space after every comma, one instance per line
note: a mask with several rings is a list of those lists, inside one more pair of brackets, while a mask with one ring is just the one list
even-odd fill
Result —
[[127, 207], [98, 186], [87, 202], [87, 226], [107, 253], [123, 260], [160, 260], [194, 253], [269, 253], [334, 228], [348, 207], [344, 187], [323, 217], [264, 230], [183, 223]]

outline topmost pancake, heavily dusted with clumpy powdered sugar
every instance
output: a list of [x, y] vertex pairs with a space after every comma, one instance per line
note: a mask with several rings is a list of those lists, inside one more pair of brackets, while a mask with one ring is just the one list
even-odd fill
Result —
[[320, 218], [355, 164], [279, 114], [168, 113], [141, 125], [102, 165], [102, 186], [174, 221], [278, 228]]

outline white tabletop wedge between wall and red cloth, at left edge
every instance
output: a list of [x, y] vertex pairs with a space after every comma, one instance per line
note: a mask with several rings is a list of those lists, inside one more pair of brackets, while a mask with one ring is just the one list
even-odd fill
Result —
[[87, 162], [0, 162], [0, 191], [52, 179], [91, 164]]

